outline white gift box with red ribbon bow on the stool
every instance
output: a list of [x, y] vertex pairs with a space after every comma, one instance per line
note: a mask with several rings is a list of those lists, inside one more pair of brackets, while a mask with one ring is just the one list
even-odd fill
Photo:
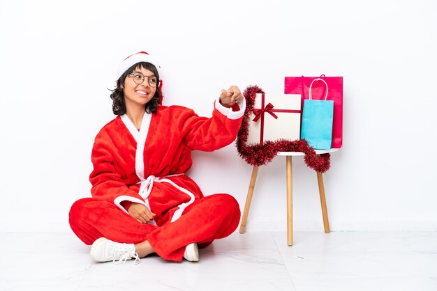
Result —
[[247, 143], [299, 139], [301, 113], [300, 94], [256, 94]]

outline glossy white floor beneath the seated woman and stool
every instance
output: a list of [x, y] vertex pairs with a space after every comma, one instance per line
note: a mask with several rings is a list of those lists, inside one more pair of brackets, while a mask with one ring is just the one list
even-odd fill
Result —
[[0, 233], [0, 290], [437, 290], [437, 233], [237, 231], [200, 262], [96, 263], [73, 233]]

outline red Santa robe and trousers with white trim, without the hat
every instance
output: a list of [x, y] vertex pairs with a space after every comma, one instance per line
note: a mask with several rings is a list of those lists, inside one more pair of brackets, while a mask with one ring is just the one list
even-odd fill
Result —
[[[228, 194], [204, 197], [185, 174], [191, 151], [217, 150], [237, 136], [245, 100], [233, 109], [218, 100], [214, 105], [211, 118], [161, 105], [145, 113], [139, 131], [126, 114], [105, 125], [91, 154], [92, 198], [71, 208], [76, 235], [86, 244], [102, 236], [126, 243], [147, 239], [162, 258], [177, 261], [191, 242], [209, 244], [230, 235], [239, 223], [236, 200]], [[127, 212], [133, 202], [146, 205], [154, 220], [133, 219]]]

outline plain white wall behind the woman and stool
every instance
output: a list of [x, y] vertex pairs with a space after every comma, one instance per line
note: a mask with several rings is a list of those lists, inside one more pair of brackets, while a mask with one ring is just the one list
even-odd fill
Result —
[[[70, 231], [91, 146], [126, 56], [161, 61], [164, 104], [211, 116], [221, 88], [282, 93], [285, 76], [344, 77], [343, 148], [325, 174], [332, 230], [437, 230], [437, 2], [0, 0], [0, 230]], [[206, 195], [243, 210], [235, 144], [194, 152]], [[316, 173], [293, 159], [295, 230], [323, 223]], [[260, 168], [248, 231], [286, 230], [285, 157]]]

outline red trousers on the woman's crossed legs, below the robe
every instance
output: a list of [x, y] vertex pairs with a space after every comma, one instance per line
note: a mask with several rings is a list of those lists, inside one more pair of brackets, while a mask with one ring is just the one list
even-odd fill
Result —
[[99, 237], [127, 244], [148, 240], [161, 258], [180, 262], [188, 244], [207, 246], [214, 239], [233, 233], [239, 216], [237, 200], [228, 194], [195, 200], [177, 221], [162, 221], [162, 226], [140, 223], [114, 203], [83, 198], [71, 207], [70, 226], [85, 244], [92, 244]]

